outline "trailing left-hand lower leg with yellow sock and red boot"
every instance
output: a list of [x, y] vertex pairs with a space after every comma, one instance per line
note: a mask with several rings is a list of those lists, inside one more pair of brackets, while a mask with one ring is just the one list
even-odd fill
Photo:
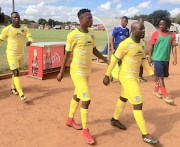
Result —
[[75, 95], [71, 99], [71, 104], [70, 104], [70, 110], [69, 110], [69, 116], [66, 121], [66, 125], [73, 127], [76, 130], [81, 130], [81, 126], [77, 125], [76, 122], [74, 121], [74, 114], [77, 110], [78, 104], [79, 104], [80, 99], [77, 98], [77, 94], [75, 92]]

